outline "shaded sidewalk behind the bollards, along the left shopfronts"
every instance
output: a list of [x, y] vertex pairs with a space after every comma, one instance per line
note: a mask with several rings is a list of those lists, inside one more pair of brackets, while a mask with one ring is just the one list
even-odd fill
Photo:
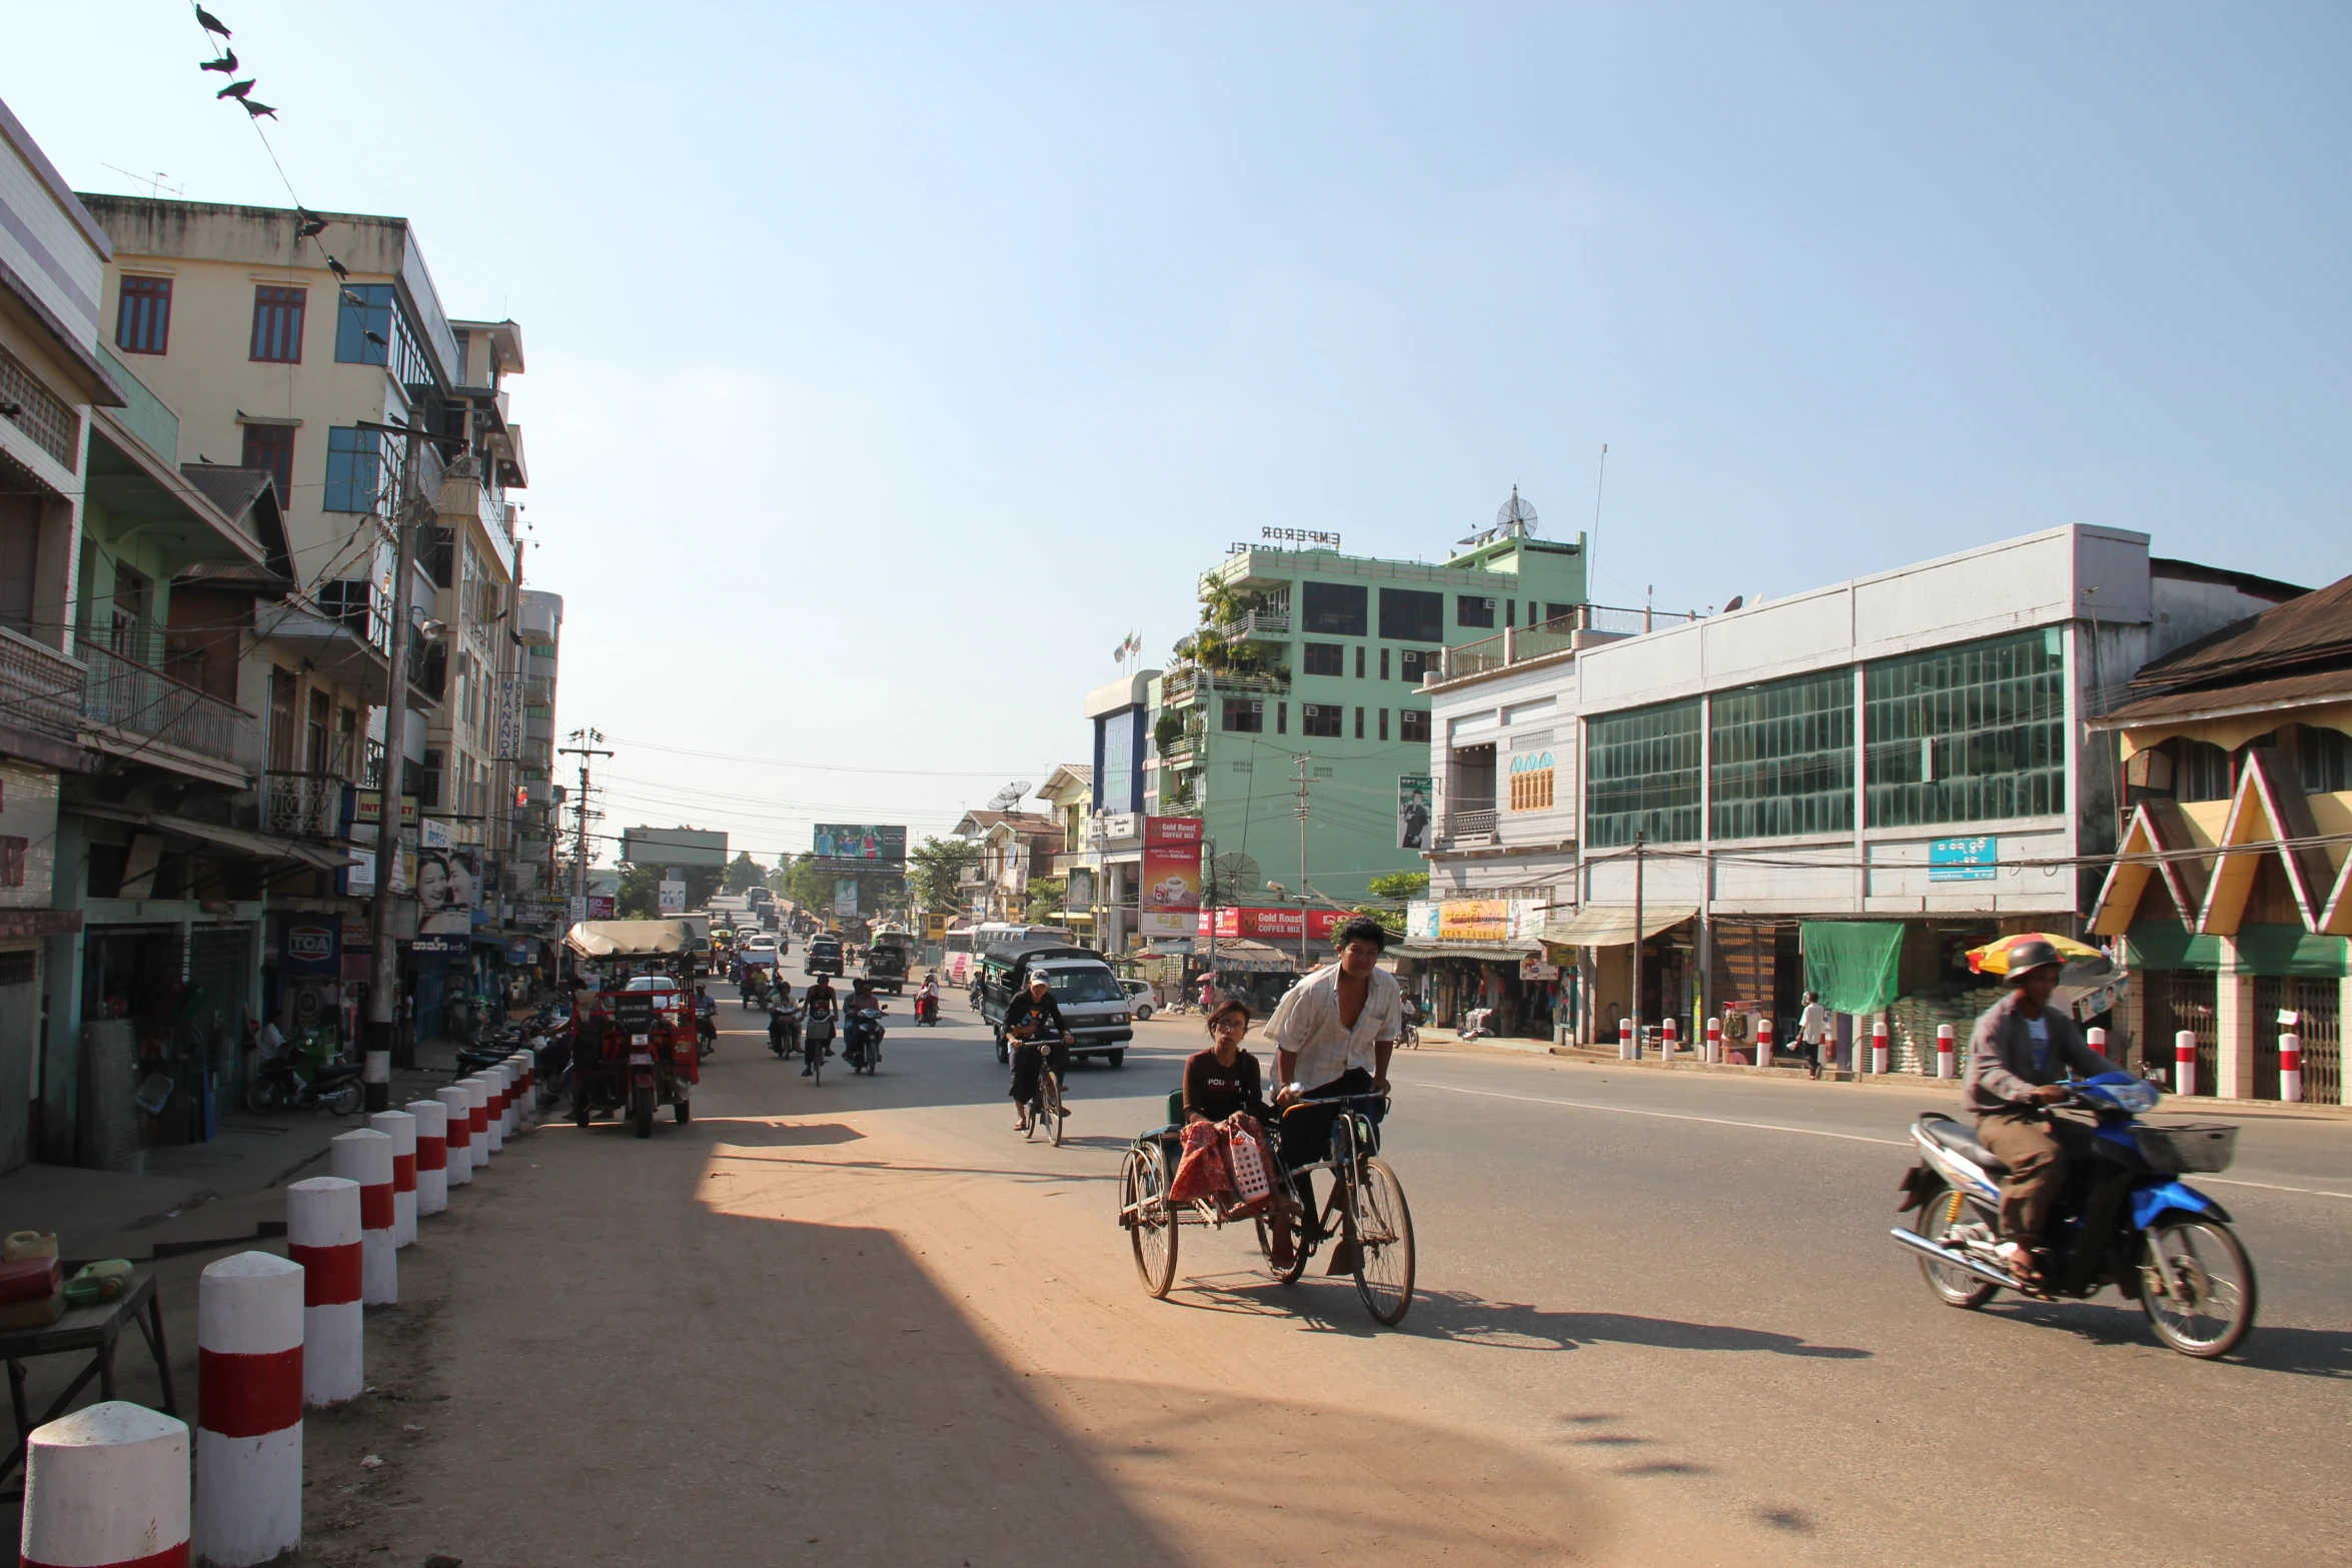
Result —
[[[449, 1081], [447, 1067], [393, 1072], [393, 1105]], [[221, 1117], [212, 1143], [146, 1150], [146, 1173], [19, 1166], [0, 1175], [0, 1232], [54, 1229], [61, 1258], [132, 1262], [280, 1237], [280, 1187], [325, 1175], [327, 1145], [360, 1126], [367, 1112], [254, 1117], [238, 1110]]]

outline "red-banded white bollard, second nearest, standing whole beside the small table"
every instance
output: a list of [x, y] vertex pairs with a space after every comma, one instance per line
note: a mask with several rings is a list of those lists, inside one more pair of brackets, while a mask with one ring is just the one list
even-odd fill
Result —
[[299, 1262], [238, 1253], [198, 1281], [195, 1556], [202, 1563], [247, 1568], [301, 1544], [301, 1333]]

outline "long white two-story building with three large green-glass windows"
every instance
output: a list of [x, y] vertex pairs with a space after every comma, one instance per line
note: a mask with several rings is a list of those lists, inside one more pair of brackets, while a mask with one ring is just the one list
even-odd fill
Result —
[[2296, 592], [2063, 527], [1649, 635], [1449, 661], [1430, 682], [1432, 898], [1550, 891], [1585, 1039], [1635, 1013], [1639, 898], [1644, 1020], [1689, 1037], [1769, 1013], [1785, 1037], [1811, 976], [1933, 1048], [1933, 1020], [1971, 1004], [1957, 954], [2074, 931], [2089, 907], [2103, 867], [2079, 858], [2114, 849], [2117, 764], [2086, 719], [2145, 661]]

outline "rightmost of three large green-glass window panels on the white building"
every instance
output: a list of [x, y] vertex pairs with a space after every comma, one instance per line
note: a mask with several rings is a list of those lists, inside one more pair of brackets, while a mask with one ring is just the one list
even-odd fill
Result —
[[1863, 670], [1870, 827], [2065, 811], [2065, 635], [2039, 628]]

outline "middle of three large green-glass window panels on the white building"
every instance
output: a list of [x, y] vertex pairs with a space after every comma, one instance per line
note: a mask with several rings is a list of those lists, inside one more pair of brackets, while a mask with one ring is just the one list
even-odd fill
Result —
[[1853, 830], [1851, 668], [1715, 693], [1708, 818], [1715, 839]]

